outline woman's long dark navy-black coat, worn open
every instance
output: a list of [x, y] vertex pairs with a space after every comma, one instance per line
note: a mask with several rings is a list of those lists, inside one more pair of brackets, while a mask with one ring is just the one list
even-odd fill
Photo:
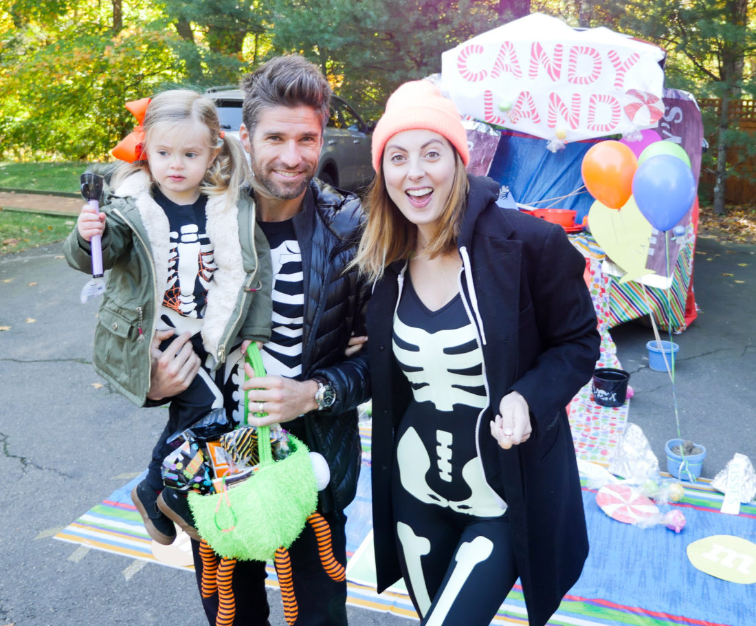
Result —
[[[585, 262], [561, 226], [494, 204], [498, 185], [470, 178], [457, 246], [462, 294], [482, 344], [489, 406], [477, 424], [485, 478], [508, 504], [515, 559], [531, 626], [545, 624], [580, 576], [588, 553], [577, 462], [565, 406], [599, 356]], [[391, 506], [395, 431], [411, 398], [392, 355], [398, 275], [386, 269], [370, 298], [367, 332], [373, 386], [373, 536], [379, 591], [401, 573]], [[519, 391], [533, 433], [501, 449], [489, 422]]]

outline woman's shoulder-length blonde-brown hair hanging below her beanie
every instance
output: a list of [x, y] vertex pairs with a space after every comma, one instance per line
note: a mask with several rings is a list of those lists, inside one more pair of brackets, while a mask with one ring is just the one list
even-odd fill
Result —
[[[429, 257], [447, 254], [457, 247], [460, 223], [467, 203], [469, 183], [460, 154], [454, 151], [454, 179], [438, 226], [426, 248]], [[389, 197], [380, 161], [375, 179], [367, 189], [363, 201], [367, 223], [362, 232], [355, 259], [357, 266], [370, 282], [380, 280], [383, 270], [396, 260], [408, 259], [417, 242], [417, 226], [407, 220]]]

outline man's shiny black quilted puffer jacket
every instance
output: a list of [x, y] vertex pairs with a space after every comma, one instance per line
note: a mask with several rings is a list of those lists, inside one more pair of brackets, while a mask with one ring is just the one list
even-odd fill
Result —
[[352, 332], [366, 334], [367, 288], [356, 269], [344, 272], [355, 256], [363, 219], [359, 198], [313, 180], [293, 220], [305, 292], [299, 379], [322, 376], [336, 388], [330, 410], [290, 422], [291, 431], [330, 466], [330, 486], [320, 494], [324, 512], [342, 510], [355, 497], [361, 456], [356, 407], [370, 397], [367, 349], [344, 357]]

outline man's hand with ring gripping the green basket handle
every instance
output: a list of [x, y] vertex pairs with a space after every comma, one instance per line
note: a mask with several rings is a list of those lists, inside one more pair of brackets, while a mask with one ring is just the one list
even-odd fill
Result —
[[[303, 413], [318, 408], [315, 392], [318, 383], [312, 380], [299, 382], [283, 376], [256, 377], [252, 366], [244, 363], [248, 377], [242, 388], [249, 400], [247, 421], [253, 426], [265, 426], [281, 422], [290, 422]], [[265, 417], [255, 417], [253, 413], [268, 413]]]

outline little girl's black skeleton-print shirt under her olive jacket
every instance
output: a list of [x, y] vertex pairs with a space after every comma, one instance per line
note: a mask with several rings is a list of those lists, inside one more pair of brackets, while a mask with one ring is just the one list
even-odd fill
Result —
[[154, 198], [163, 208], [170, 225], [168, 283], [163, 294], [159, 329], [176, 329], [176, 335], [202, 329], [207, 290], [216, 265], [212, 242], [206, 234], [207, 196], [194, 204], [175, 204], [154, 189]]

